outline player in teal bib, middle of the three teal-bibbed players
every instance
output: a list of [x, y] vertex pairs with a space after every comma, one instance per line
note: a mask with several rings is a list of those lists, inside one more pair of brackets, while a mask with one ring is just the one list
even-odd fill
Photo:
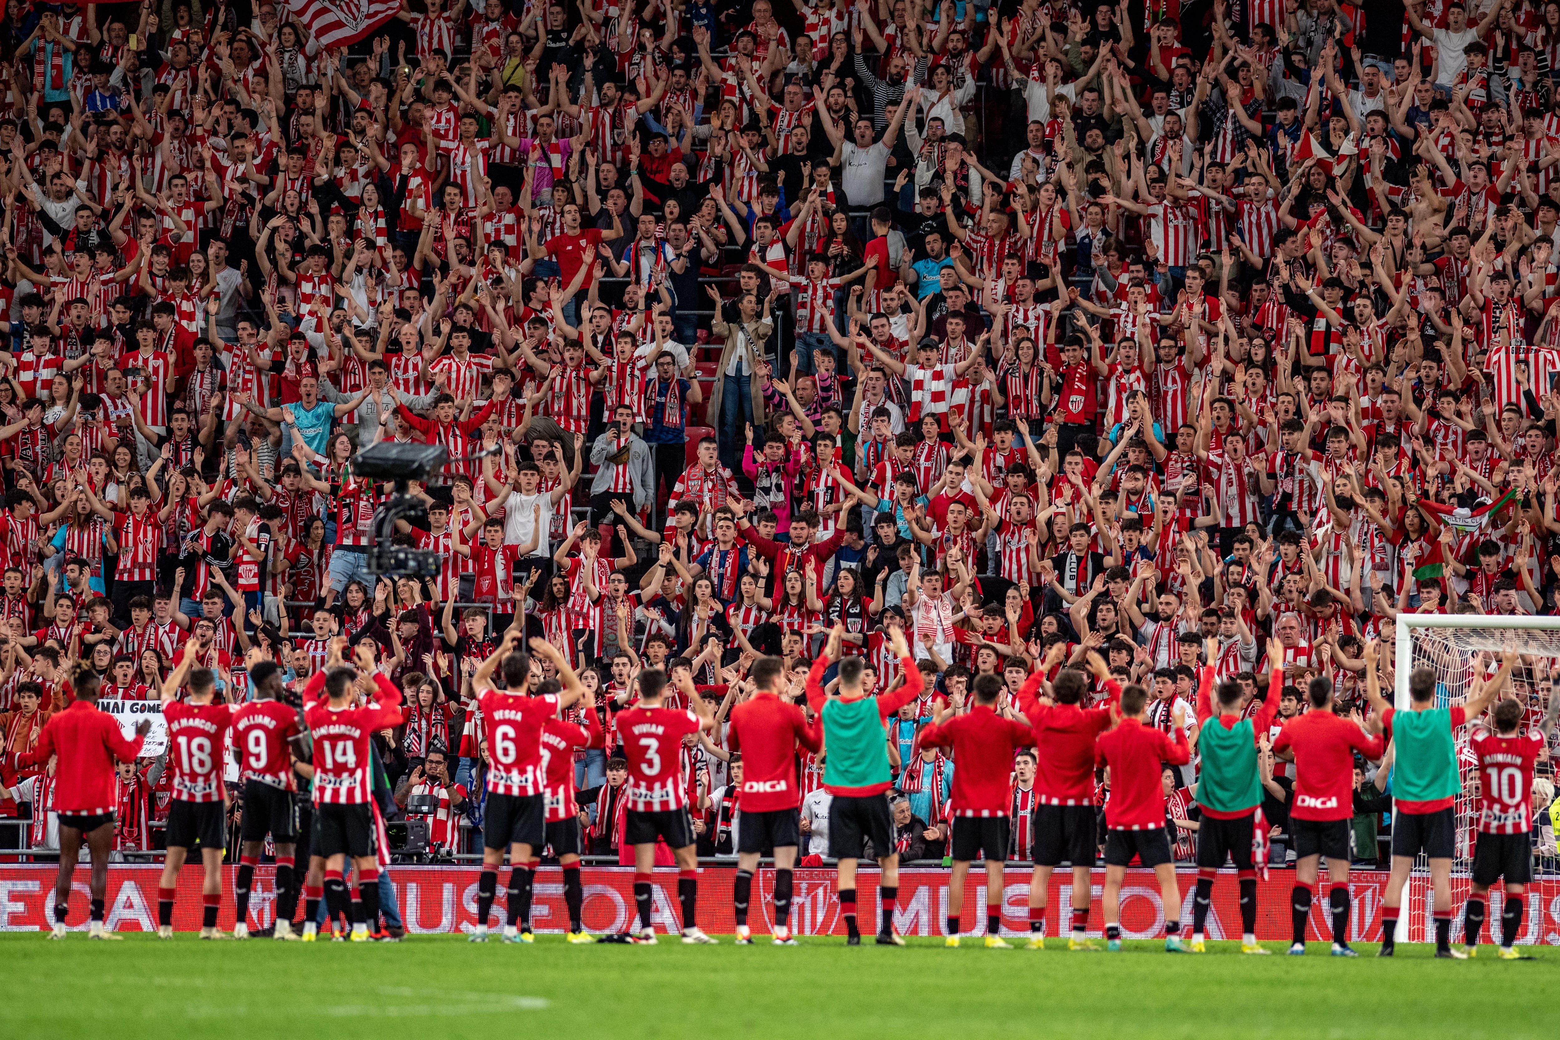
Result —
[[[1206, 639], [1204, 652], [1211, 663], [1217, 661], [1218, 641]], [[1268, 641], [1268, 660], [1284, 660], [1284, 646], [1276, 639]], [[1251, 861], [1251, 840], [1262, 808], [1257, 747], [1278, 711], [1284, 670], [1273, 669], [1267, 700], [1251, 719], [1243, 717], [1240, 684], [1234, 681], [1218, 684], [1218, 714], [1214, 714], [1214, 699], [1209, 695], [1212, 678], [1214, 669], [1204, 667], [1197, 689], [1197, 752], [1201, 755], [1197, 803], [1203, 806], [1203, 823], [1197, 833], [1192, 953], [1203, 953], [1206, 948], [1203, 928], [1214, 901], [1214, 879], [1225, 861], [1232, 859], [1240, 886], [1240, 953], [1265, 954], [1267, 950], [1257, 945], [1257, 872]]]

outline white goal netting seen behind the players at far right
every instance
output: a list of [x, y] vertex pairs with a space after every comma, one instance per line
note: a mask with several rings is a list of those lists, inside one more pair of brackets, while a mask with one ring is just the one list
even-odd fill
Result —
[[[1551, 672], [1560, 670], [1560, 617], [1509, 617], [1485, 614], [1399, 614], [1396, 619], [1396, 669], [1393, 680], [1393, 703], [1399, 709], [1409, 705], [1409, 675], [1413, 669], [1435, 669], [1435, 702], [1438, 708], [1451, 708], [1468, 699], [1476, 680], [1494, 675], [1501, 667], [1501, 655], [1515, 650], [1521, 655], [1512, 667], [1512, 677], [1502, 697], [1516, 697], [1526, 708], [1526, 727], [1537, 727], [1549, 700]], [[1457, 844], [1452, 870], [1465, 873], [1473, 867], [1476, 812], [1479, 786], [1487, 783], [1479, 775], [1470, 747], [1471, 730], [1457, 731], [1457, 769], [1462, 778], [1462, 794], [1457, 795]], [[1554, 781], [1554, 761], [1544, 756], [1538, 762], [1538, 776]], [[1418, 867], [1426, 867], [1420, 858]], [[1557, 873], [1560, 862], [1554, 856], [1533, 850], [1535, 873]]]

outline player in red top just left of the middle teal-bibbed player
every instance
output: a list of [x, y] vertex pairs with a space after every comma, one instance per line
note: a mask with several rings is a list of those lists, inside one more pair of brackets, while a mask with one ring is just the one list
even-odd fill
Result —
[[1165, 911], [1165, 953], [1186, 953], [1181, 945], [1181, 886], [1175, 879], [1170, 836], [1165, 834], [1165, 795], [1161, 762], [1186, 766], [1192, 748], [1186, 742], [1186, 705], [1175, 706], [1172, 741], [1143, 725], [1148, 691], [1136, 683], [1122, 691], [1123, 719], [1094, 744], [1094, 761], [1111, 770], [1111, 795], [1104, 803], [1104, 937], [1111, 953], [1122, 950], [1122, 881], [1136, 854], [1153, 867]]

